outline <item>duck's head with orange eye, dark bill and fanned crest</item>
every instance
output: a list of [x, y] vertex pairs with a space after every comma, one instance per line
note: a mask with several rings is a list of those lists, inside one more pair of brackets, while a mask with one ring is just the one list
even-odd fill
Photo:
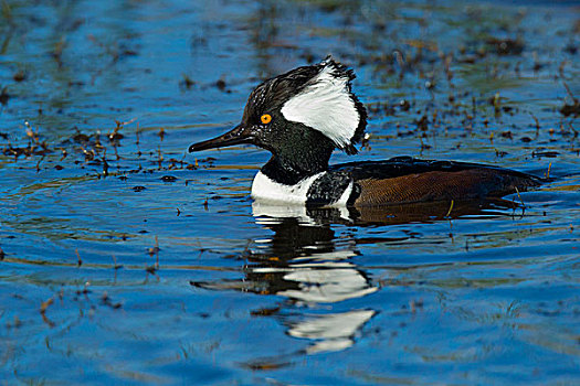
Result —
[[351, 90], [355, 74], [330, 57], [265, 81], [247, 99], [242, 122], [189, 151], [252, 143], [275, 157], [308, 162], [335, 148], [355, 154], [367, 111]]

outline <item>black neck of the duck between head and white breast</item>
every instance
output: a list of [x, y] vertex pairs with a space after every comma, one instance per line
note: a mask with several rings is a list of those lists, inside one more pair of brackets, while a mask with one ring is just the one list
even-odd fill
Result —
[[277, 153], [262, 168], [270, 180], [295, 185], [299, 181], [328, 170], [333, 147], [295, 148], [289, 153]]

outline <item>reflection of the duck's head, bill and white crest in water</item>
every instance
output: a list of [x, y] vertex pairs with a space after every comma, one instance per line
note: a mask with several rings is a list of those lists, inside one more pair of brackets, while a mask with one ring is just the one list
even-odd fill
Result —
[[[296, 217], [266, 217], [261, 212], [256, 221], [274, 230], [274, 235], [244, 256], [251, 261], [245, 277], [192, 285], [285, 297], [288, 302], [283, 308], [293, 309], [289, 315], [280, 312], [278, 317], [291, 336], [315, 341], [307, 353], [338, 351], [352, 345], [357, 331], [376, 311], [336, 312], [333, 305], [333, 311], [320, 312], [316, 305], [338, 304], [377, 291], [366, 274], [351, 261], [357, 256], [355, 245], [348, 240], [338, 245], [330, 226], [316, 218], [303, 223]], [[310, 311], [296, 313], [296, 310], [304, 310], [300, 305], [309, 307]]]

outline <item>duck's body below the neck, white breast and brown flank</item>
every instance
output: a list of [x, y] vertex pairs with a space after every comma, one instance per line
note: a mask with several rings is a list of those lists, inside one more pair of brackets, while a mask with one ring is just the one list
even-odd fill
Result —
[[295, 184], [260, 171], [252, 197], [323, 206], [376, 206], [394, 203], [500, 197], [539, 185], [534, 175], [478, 163], [398, 157], [331, 165]]

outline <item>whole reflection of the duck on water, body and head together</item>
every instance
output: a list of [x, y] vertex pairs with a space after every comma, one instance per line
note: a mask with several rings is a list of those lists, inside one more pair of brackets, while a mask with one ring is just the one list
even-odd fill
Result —
[[[450, 217], [460, 213], [499, 214], [486, 207], [481, 204], [470, 208], [460, 204]], [[444, 217], [447, 210], [441, 205], [403, 205], [400, 208], [386, 207], [382, 213], [379, 210], [345, 213], [338, 208], [309, 210], [304, 205], [286, 207], [256, 201], [253, 204], [256, 222], [274, 234], [268, 239], [256, 240], [256, 247], [244, 253], [243, 257], [250, 261], [244, 277], [191, 285], [212, 290], [284, 297], [287, 301], [281, 309], [253, 312], [274, 314], [287, 326], [291, 336], [315, 341], [306, 349], [307, 353], [344, 350], [354, 344], [354, 336], [376, 311], [365, 307], [341, 310], [341, 303], [376, 292], [378, 287], [354, 261], [358, 256], [357, 244], [372, 240], [336, 238], [330, 224], [360, 224], [361, 218], [372, 224], [379, 223], [379, 219], [384, 224], [429, 222]], [[283, 214], [287, 214], [287, 217]], [[319, 309], [319, 304], [331, 307], [331, 311]], [[309, 311], [303, 312], [303, 307], [308, 307]], [[288, 309], [291, 312], [285, 312]]]

